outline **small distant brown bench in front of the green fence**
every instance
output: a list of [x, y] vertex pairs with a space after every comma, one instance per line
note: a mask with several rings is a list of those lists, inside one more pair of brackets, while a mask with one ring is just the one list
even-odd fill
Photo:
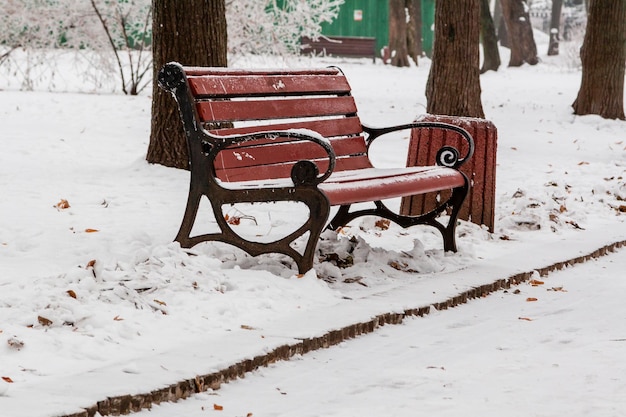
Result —
[[376, 62], [376, 38], [361, 36], [320, 36], [300, 39], [302, 54], [372, 58]]

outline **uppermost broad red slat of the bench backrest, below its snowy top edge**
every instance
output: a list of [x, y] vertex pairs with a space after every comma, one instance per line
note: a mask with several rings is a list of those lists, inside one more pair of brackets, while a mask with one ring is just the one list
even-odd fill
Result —
[[350, 92], [350, 85], [343, 75], [190, 77], [189, 86], [192, 94], [199, 98], [348, 94]]

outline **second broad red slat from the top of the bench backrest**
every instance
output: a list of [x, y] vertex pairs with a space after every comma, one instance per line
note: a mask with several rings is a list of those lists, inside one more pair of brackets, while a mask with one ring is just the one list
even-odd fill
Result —
[[209, 101], [197, 104], [203, 122], [336, 116], [356, 113], [351, 96], [292, 100]]

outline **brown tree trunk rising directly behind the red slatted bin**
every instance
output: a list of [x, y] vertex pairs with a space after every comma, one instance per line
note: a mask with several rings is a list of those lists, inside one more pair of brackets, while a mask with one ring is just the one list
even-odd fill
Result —
[[426, 84], [427, 112], [484, 118], [480, 101], [479, 0], [438, 0]]

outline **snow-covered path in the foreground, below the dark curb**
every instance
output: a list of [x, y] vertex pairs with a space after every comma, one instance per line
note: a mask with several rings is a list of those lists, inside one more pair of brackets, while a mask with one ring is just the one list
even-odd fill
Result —
[[136, 416], [624, 415], [624, 270], [621, 249]]

